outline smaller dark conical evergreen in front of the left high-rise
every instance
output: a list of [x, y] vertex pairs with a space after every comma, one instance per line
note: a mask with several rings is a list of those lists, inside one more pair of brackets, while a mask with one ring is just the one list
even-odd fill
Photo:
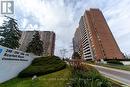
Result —
[[38, 31], [35, 31], [32, 41], [28, 44], [26, 52], [31, 52], [35, 55], [42, 55], [43, 42], [40, 40], [40, 35]]

